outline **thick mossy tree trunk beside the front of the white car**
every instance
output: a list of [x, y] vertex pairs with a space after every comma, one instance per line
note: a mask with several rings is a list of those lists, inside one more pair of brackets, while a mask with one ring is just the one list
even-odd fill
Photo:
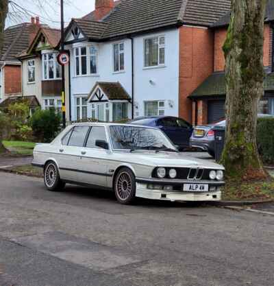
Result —
[[258, 104], [264, 94], [266, 0], [232, 0], [223, 46], [226, 58], [226, 139], [223, 164], [228, 178], [265, 178], [258, 154]]

